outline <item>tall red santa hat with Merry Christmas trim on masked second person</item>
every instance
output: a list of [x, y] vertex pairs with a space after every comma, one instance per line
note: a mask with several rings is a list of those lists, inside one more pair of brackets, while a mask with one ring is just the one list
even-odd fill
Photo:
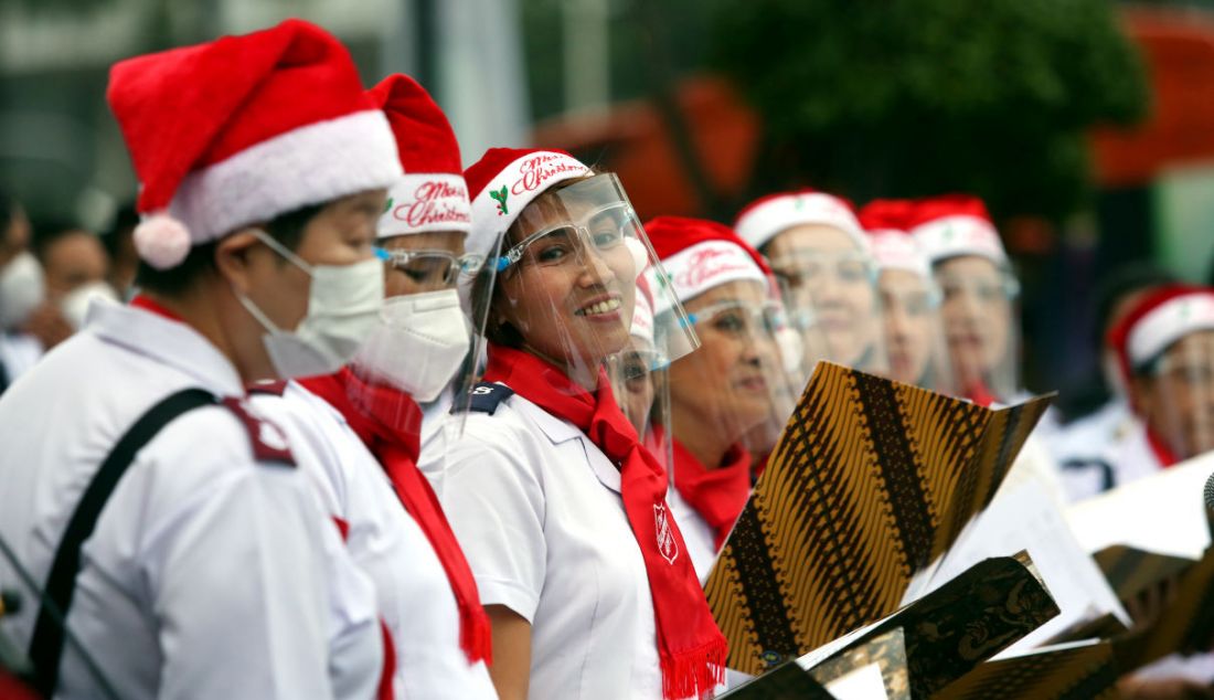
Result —
[[368, 90], [384, 109], [401, 157], [404, 177], [388, 190], [380, 216], [380, 238], [429, 231], [472, 230], [472, 205], [464, 182], [455, 131], [416, 80], [399, 73]]

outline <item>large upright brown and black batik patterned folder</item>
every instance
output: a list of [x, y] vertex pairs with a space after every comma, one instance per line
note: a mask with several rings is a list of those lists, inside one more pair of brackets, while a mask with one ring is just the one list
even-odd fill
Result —
[[989, 410], [818, 363], [705, 587], [730, 667], [761, 673], [897, 610], [1049, 402]]

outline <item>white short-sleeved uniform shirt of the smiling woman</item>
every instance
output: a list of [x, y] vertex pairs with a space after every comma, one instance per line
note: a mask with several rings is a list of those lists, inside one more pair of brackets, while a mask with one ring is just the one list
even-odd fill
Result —
[[532, 625], [529, 696], [660, 698], [649, 582], [607, 456], [512, 396], [492, 416], [466, 414], [446, 480], [481, 602]]

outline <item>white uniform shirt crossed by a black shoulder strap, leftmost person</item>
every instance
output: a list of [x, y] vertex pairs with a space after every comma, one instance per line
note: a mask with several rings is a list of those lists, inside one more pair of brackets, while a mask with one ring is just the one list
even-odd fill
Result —
[[[0, 534], [36, 581], [119, 436], [189, 386], [243, 394], [188, 326], [97, 304], [0, 396]], [[23, 589], [2, 559], [0, 585]], [[27, 603], [5, 619], [23, 647]], [[225, 407], [185, 413], [137, 453], [83, 547], [68, 626], [124, 700], [369, 698], [382, 665], [374, 591], [307, 478], [257, 463]], [[100, 696], [70, 645], [57, 696]]]

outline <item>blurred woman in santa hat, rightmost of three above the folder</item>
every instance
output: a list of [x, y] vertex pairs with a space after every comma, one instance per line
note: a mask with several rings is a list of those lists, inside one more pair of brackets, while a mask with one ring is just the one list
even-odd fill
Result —
[[1023, 396], [1016, 360], [1020, 283], [986, 205], [969, 194], [920, 199], [906, 226], [941, 289], [957, 390], [982, 405]]

